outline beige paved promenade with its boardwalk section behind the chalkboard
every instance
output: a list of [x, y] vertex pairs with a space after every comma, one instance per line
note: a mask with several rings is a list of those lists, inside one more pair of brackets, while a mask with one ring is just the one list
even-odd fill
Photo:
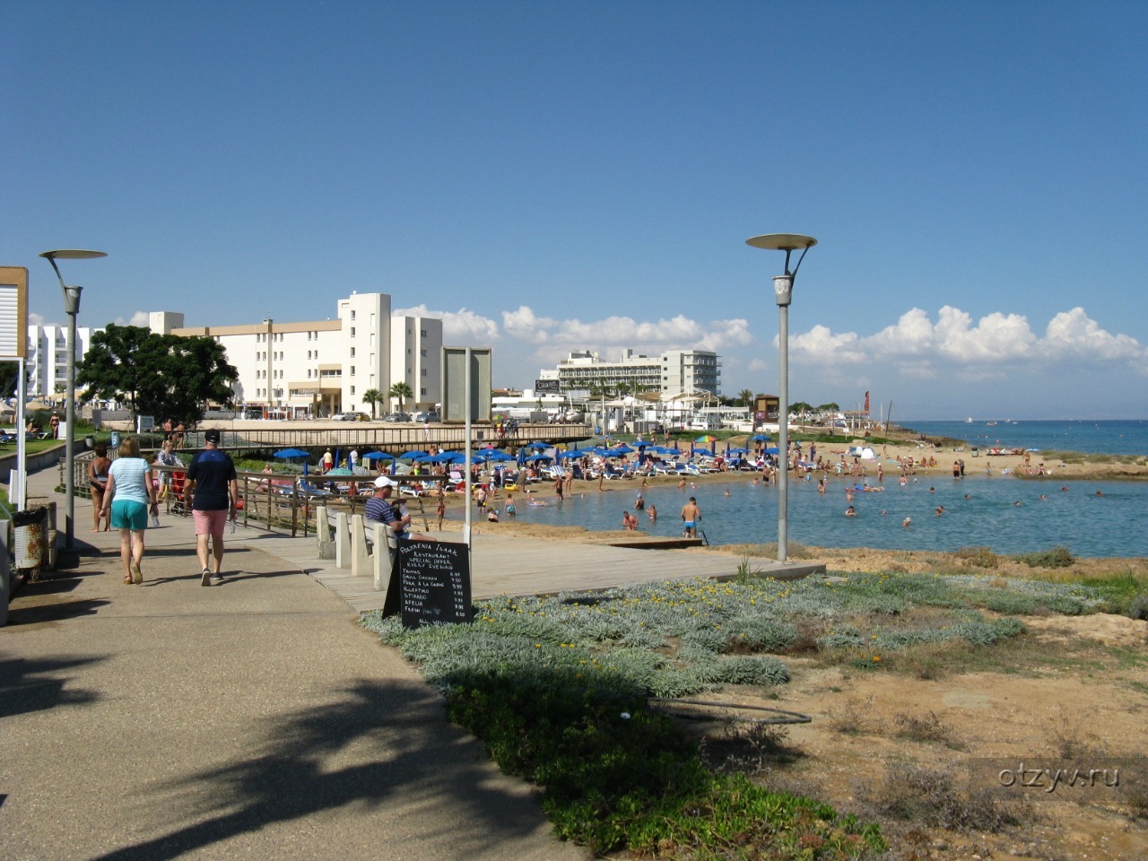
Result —
[[[55, 478], [30, 496], [62, 526]], [[204, 589], [191, 519], [162, 517], [124, 585], [118, 534], [92, 534], [86, 502], [76, 517], [78, 566], [26, 585], [0, 628], [0, 859], [589, 858], [355, 623], [382, 594], [313, 537], [240, 528]], [[737, 567], [556, 548], [476, 536], [475, 597]]]

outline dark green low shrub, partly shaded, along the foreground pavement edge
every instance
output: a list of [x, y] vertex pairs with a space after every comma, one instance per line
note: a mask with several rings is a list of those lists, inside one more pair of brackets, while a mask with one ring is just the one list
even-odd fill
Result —
[[841, 858], [885, 847], [876, 827], [828, 805], [712, 774], [697, 745], [642, 698], [569, 677], [475, 674], [447, 700], [450, 719], [482, 738], [504, 770], [544, 788], [558, 836], [597, 854], [720, 859], [748, 846], [792, 858], [808, 835]]

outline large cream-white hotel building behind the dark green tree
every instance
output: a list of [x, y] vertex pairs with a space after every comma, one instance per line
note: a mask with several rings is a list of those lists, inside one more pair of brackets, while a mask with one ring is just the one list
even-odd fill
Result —
[[[383, 396], [396, 382], [413, 393], [403, 406], [432, 410], [441, 402], [442, 320], [391, 317], [386, 293], [352, 293], [334, 319], [241, 326], [184, 326], [184, 315], [154, 311], [153, 332], [214, 338], [239, 372], [235, 404], [290, 417], [371, 412], [363, 394]], [[381, 404], [382, 412], [398, 401]]]

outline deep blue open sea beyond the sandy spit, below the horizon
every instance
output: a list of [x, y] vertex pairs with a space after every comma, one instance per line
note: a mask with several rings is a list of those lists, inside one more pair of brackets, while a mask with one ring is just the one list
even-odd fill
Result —
[[[991, 424], [993, 422], [993, 424]], [[928, 436], [964, 440], [970, 445], [1038, 451], [1148, 456], [1148, 419], [1104, 421], [912, 421], [901, 426]]]

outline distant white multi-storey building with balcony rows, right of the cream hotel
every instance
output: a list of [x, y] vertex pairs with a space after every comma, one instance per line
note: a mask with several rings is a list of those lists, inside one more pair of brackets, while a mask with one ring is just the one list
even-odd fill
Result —
[[540, 379], [559, 380], [566, 391], [625, 388], [634, 393], [681, 391], [720, 394], [721, 362], [708, 350], [669, 350], [660, 356], [643, 356], [623, 350], [618, 362], [604, 362], [597, 352], [572, 352], [557, 369], [543, 369]]

